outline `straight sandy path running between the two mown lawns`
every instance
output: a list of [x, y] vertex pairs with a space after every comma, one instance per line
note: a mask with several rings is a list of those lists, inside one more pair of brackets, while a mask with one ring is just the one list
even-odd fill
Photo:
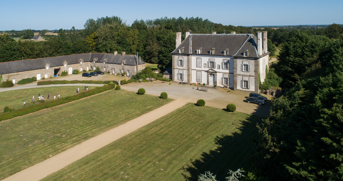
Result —
[[25, 170], [3, 179], [2, 181], [38, 181], [63, 167], [81, 159], [82, 157], [106, 146], [107, 144], [155, 121], [156, 119], [173, 112], [186, 105], [184, 100], [174, 100], [162, 107], [141, 115], [127, 123], [110, 129], [96, 137], [88, 139], [75, 147], [63, 151]]

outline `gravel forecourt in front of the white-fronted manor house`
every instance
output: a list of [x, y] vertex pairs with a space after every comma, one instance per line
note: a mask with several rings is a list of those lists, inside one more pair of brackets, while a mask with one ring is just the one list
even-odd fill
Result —
[[204, 99], [206, 106], [212, 106], [216, 108], [226, 108], [226, 105], [233, 103], [236, 105], [236, 111], [245, 112], [249, 114], [255, 114], [260, 116], [268, 116], [270, 110], [270, 100], [273, 96], [263, 95], [268, 98], [265, 105], [257, 105], [253, 103], [247, 103], [245, 100], [249, 97], [249, 93], [231, 91], [228, 93], [228, 89], [208, 89], [208, 92], [198, 91], [195, 85], [180, 85], [178, 83], [171, 83], [162, 81], [154, 82], [142, 82], [142, 83], [130, 83], [121, 85], [121, 88], [127, 91], [137, 92], [139, 88], [144, 88], [146, 94], [160, 96], [161, 92], [166, 92], [168, 98], [182, 99], [187, 102], [196, 103], [198, 99]]

